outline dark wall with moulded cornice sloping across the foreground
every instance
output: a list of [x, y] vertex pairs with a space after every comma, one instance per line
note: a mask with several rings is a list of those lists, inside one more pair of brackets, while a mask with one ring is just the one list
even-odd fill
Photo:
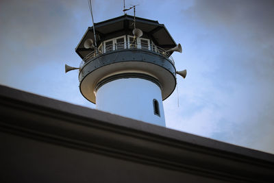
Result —
[[273, 182], [274, 156], [0, 86], [0, 182]]

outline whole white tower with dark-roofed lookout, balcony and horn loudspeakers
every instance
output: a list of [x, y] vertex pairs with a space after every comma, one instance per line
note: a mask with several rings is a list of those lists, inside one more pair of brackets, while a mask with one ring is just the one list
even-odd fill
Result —
[[162, 101], [176, 86], [171, 54], [182, 48], [163, 24], [127, 14], [95, 23], [75, 51], [79, 89], [98, 110], [165, 126]]

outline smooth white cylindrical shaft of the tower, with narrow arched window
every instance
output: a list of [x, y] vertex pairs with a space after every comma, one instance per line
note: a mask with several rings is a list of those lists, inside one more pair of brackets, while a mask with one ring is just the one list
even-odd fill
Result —
[[165, 126], [162, 93], [158, 84], [143, 78], [117, 78], [96, 92], [99, 110]]

